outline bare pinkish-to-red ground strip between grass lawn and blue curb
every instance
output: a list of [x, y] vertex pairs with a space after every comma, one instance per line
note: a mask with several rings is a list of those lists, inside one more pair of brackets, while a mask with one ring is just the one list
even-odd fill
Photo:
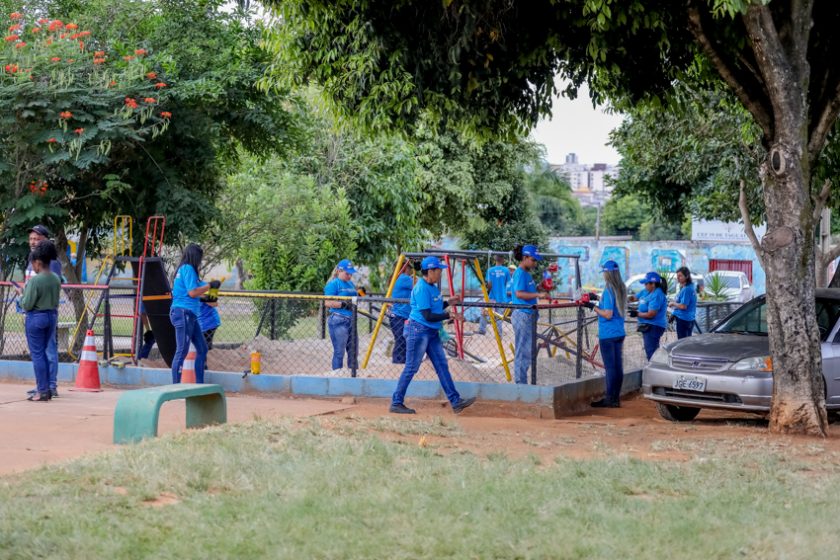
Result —
[[[25, 401], [28, 385], [0, 383], [0, 475], [113, 449], [113, 410], [121, 391], [75, 393], [49, 403]], [[357, 427], [375, 437], [428, 446], [440, 453], [557, 458], [623, 455], [646, 461], [685, 461], [704, 453], [755, 448], [778, 450], [790, 458], [821, 460], [840, 453], [840, 423], [827, 439], [777, 436], [766, 420], [752, 415], [704, 411], [694, 422], [665, 421], [641, 397], [620, 409], [593, 410], [554, 419], [521, 418], [511, 405], [479, 402], [456, 416], [440, 401], [411, 401], [416, 416], [392, 415], [382, 399], [295, 399], [228, 395], [230, 422], [255, 418], [320, 415], [337, 431]], [[184, 429], [183, 401], [161, 410], [160, 432]], [[326, 415], [326, 416], [324, 416]]]

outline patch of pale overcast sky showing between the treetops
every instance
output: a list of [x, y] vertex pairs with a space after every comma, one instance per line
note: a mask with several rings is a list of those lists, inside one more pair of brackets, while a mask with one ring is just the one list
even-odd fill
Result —
[[586, 86], [577, 99], [557, 98], [552, 112], [551, 120], [541, 120], [533, 132], [534, 139], [545, 145], [549, 163], [563, 163], [569, 152], [576, 153], [580, 163], [618, 163], [618, 152], [606, 143], [622, 117], [607, 114], [602, 107], [593, 109]]

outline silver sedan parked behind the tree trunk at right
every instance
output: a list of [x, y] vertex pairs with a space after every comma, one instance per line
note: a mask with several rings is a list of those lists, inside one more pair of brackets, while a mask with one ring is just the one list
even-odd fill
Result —
[[[840, 289], [817, 290], [826, 408], [840, 409]], [[764, 296], [744, 304], [712, 332], [657, 350], [642, 372], [642, 394], [663, 418], [689, 421], [703, 408], [767, 413], [773, 361]]]

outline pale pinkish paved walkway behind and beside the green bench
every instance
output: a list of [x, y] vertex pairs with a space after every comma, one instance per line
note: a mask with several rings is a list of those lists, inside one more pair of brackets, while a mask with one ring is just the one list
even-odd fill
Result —
[[[114, 406], [123, 392], [70, 391], [50, 402], [29, 402], [32, 385], [0, 383], [0, 475], [73, 459], [115, 447]], [[313, 399], [284, 399], [227, 394], [228, 422], [259, 418], [305, 417], [328, 414], [352, 405]], [[184, 430], [184, 401], [168, 402], [160, 412], [158, 433]]]

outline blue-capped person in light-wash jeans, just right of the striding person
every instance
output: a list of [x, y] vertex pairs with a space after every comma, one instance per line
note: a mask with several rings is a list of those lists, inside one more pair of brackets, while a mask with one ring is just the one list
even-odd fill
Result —
[[[519, 268], [513, 273], [511, 280], [510, 302], [533, 305], [537, 303], [540, 294], [531, 272], [537, 263], [543, 260], [542, 255], [534, 245], [517, 245], [513, 250], [513, 257], [519, 261]], [[531, 315], [536, 312], [535, 309], [515, 309], [510, 316], [514, 335], [514, 381], [517, 383], [528, 383], [528, 369], [531, 367], [534, 343]]]

